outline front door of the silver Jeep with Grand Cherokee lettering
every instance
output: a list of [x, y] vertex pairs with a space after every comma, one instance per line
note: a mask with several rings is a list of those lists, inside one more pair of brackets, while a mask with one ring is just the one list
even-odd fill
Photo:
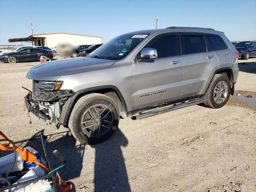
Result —
[[158, 58], [132, 64], [134, 110], [178, 100], [182, 95], [184, 62], [178, 34], [160, 34], [144, 48], [155, 48]]

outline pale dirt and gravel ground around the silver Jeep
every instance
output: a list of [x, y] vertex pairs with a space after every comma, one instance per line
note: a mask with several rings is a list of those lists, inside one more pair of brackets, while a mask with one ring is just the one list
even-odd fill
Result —
[[[57, 56], [58, 57], [58, 56]], [[56, 58], [56, 57], [55, 57]], [[12, 140], [40, 130], [48, 136], [53, 168], [67, 160], [62, 179], [78, 192], [254, 192], [256, 191], [256, 108], [231, 97], [220, 109], [191, 106], [143, 120], [120, 120], [106, 142], [78, 145], [68, 129], [47, 126], [24, 111], [32, 88], [26, 78], [39, 62], [0, 63], [0, 130]], [[256, 58], [240, 60], [236, 94], [256, 96]]]

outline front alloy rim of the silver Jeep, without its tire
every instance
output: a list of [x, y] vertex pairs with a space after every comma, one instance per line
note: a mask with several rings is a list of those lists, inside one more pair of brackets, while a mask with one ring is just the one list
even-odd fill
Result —
[[81, 125], [84, 134], [90, 137], [104, 135], [113, 124], [111, 109], [103, 104], [91, 106], [82, 116]]

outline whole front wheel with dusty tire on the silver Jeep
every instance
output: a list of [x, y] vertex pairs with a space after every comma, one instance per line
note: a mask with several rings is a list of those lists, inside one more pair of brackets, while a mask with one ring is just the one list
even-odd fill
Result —
[[68, 127], [81, 143], [96, 144], [114, 133], [118, 128], [119, 117], [114, 100], [103, 94], [92, 93], [76, 102]]

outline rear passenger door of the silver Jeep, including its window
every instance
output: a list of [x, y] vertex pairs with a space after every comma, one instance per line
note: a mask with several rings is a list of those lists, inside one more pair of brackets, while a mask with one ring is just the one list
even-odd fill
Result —
[[218, 69], [214, 52], [206, 44], [204, 33], [180, 32], [182, 54], [184, 58], [184, 78], [182, 98], [191, 98], [204, 94], [208, 78]]

